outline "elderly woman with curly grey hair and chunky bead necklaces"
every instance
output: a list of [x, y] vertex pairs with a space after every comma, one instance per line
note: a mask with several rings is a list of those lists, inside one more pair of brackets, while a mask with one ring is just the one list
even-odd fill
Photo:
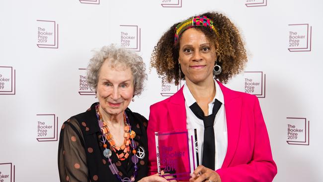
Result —
[[128, 108], [134, 95], [143, 91], [145, 69], [140, 56], [113, 45], [102, 47], [90, 59], [87, 83], [98, 102], [62, 126], [61, 182], [166, 181], [146, 177], [147, 119]]

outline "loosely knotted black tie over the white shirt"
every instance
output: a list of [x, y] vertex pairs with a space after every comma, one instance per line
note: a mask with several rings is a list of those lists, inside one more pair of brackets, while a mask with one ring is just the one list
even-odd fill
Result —
[[204, 123], [204, 143], [203, 143], [203, 158], [202, 165], [214, 170], [215, 167], [215, 137], [214, 137], [214, 119], [222, 103], [215, 99], [212, 114], [204, 116], [204, 112], [201, 107], [195, 102], [189, 108], [199, 119]]

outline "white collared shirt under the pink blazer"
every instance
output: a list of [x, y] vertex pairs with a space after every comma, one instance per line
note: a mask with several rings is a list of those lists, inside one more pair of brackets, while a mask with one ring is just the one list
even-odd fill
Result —
[[[222, 105], [215, 116], [214, 121], [214, 136], [215, 136], [215, 170], [222, 167], [224, 158], [227, 154], [228, 148], [228, 134], [227, 134], [227, 119], [224, 107], [224, 97], [219, 84], [214, 80], [215, 83], [215, 96], [213, 101], [209, 103], [209, 115], [212, 114], [212, 109], [215, 99], [218, 99]], [[197, 130], [197, 140], [198, 140], [198, 158], [199, 165], [202, 165], [203, 156], [203, 138], [204, 138], [204, 124], [203, 120], [195, 116], [193, 111], [189, 108], [193, 103], [196, 102], [192, 93], [189, 91], [186, 83], [183, 87], [183, 94], [185, 98], [185, 109], [186, 109], [186, 128]]]

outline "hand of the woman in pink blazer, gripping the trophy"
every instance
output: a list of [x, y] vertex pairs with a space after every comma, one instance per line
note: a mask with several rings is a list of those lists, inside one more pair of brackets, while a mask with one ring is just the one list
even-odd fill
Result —
[[221, 182], [219, 174], [203, 165], [198, 166], [189, 182]]

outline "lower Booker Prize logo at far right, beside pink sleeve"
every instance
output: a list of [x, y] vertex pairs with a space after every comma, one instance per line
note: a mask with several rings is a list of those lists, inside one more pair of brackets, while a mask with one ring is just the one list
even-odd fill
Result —
[[310, 121], [303, 117], [287, 117], [287, 143], [310, 145]]

